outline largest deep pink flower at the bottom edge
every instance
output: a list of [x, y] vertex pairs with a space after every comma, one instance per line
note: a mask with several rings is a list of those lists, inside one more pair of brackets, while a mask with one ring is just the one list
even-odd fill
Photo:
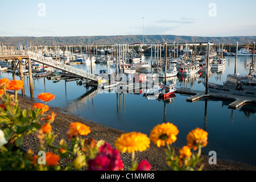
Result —
[[88, 160], [89, 171], [118, 171], [123, 170], [123, 163], [119, 151], [113, 149], [109, 143], [102, 145], [95, 159]]

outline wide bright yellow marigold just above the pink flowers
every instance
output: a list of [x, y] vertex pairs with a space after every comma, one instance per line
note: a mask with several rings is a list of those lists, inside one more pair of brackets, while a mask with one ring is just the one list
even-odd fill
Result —
[[125, 133], [122, 134], [117, 140], [115, 140], [115, 148], [125, 153], [126, 151], [131, 153], [135, 151], [144, 151], [149, 147], [150, 139], [146, 134], [142, 133]]

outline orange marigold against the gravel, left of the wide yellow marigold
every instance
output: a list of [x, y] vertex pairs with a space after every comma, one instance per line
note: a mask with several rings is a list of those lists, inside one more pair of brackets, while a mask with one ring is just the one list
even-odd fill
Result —
[[89, 133], [89, 127], [79, 122], [71, 123], [69, 125], [69, 130], [67, 131], [69, 138], [77, 137], [79, 135], [88, 135]]

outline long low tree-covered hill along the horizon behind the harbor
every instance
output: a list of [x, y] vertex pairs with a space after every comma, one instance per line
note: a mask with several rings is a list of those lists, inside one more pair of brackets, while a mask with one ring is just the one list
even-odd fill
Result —
[[[255, 42], [256, 36], [227, 36], [227, 37], [204, 37], [204, 36], [177, 36], [177, 35], [144, 35], [145, 44], [154, 44], [161, 42], [179, 42], [179, 43], [199, 43], [212, 42], [214, 44], [246, 44]], [[53, 37], [0, 37], [0, 44], [4, 46], [16, 46], [17, 43], [34, 44], [34, 46], [52, 46]], [[63, 36], [54, 37], [54, 45], [64, 46], [83, 46], [83, 45], [111, 45], [111, 44], [131, 44], [143, 43], [143, 35], [116, 35], [116, 36]]]

